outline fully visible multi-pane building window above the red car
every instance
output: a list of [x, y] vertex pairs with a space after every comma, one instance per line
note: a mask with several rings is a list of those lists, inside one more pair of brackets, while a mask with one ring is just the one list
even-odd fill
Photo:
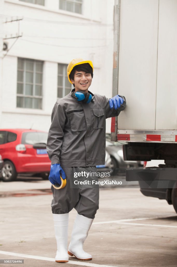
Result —
[[42, 109], [43, 61], [18, 58], [17, 107]]

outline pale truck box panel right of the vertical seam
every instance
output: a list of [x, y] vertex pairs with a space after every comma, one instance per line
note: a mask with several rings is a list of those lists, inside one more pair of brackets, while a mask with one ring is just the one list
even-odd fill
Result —
[[156, 130], [177, 130], [177, 1], [159, 1]]

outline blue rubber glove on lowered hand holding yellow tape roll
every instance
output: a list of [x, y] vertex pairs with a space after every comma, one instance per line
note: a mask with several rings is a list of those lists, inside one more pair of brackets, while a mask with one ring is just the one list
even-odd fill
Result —
[[55, 163], [50, 166], [49, 181], [52, 184], [61, 184], [61, 179], [66, 179], [66, 175], [60, 164]]

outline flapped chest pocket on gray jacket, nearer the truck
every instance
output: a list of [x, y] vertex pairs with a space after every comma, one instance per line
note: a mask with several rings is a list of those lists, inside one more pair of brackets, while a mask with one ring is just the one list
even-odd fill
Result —
[[92, 108], [93, 111], [93, 129], [102, 129], [104, 126], [104, 108]]

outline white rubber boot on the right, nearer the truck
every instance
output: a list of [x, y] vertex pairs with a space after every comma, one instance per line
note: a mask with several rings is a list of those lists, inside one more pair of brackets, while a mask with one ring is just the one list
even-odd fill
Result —
[[70, 256], [74, 256], [78, 260], [92, 260], [92, 256], [83, 250], [83, 243], [87, 238], [92, 222], [93, 219], [77, 214], [68, 248]]

